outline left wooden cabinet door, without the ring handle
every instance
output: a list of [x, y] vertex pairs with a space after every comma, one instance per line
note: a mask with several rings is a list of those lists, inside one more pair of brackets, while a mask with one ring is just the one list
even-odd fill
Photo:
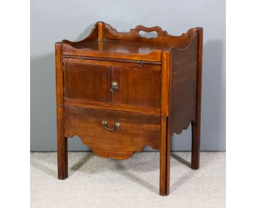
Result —
[[64, 99], [110, 102], [110, 66], [64, 62]]

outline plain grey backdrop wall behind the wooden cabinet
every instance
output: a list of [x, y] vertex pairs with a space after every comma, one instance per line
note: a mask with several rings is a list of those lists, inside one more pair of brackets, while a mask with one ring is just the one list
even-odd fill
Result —
[[[55, 42], [83, 39], [97, 21], [119, 32], [144, 25], [180, 35], [203, 27], [201, 150], [225, 150], [225, 1], [44, 0], [31, 1], [31, 151], [56, 150]], [[88, 150], [79, 138], [68, 145]], [[190, 146], [190, 128], [174, 135], [172, 150]]]

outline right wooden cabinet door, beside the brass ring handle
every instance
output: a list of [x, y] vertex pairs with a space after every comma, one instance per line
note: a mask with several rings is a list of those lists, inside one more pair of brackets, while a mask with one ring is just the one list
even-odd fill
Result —
[[113, 103], [160, 107], [161, 70], [112, 67], [112, 83], [118, 91], [112, 92]]

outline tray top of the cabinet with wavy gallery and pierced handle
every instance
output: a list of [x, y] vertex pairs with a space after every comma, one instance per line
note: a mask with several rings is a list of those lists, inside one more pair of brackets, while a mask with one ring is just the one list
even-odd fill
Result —
[[[139, 36], [140, 31], [156, 32], [157, 36]], [[191, 28], [180, 36], [172, 36], [158, 26], [136, 26], [127, 33], [120, 33], [104, 22], [97, 22], [85, 39], [77, 42], [62, 40], [63, 54], [161, 61], [162, 51], [188, 47], [195, 39], [196, 31], [197, 28]]]

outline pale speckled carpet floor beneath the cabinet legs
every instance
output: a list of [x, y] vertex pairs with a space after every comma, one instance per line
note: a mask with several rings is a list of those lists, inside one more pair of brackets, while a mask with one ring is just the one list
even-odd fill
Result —
[[69, 178], [57, 179], [56, 152], [31, 152], [31, 207], [225, 207], [225, 152], [172, 152], [170, 195], [159, 193], [159, 152], [117, 161], [68, 152]]

